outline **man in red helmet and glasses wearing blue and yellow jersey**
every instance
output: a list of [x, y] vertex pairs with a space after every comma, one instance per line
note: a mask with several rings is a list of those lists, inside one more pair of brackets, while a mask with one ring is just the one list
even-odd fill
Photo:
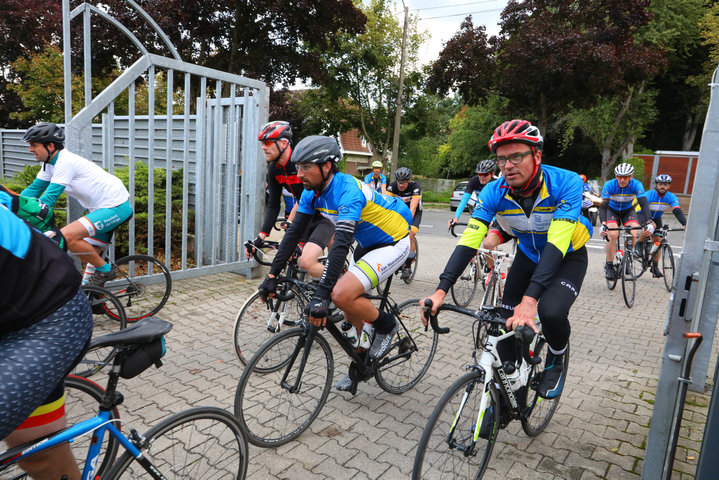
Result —
[[[536, 332], [534, 319], [539, 314], [549, 352], [537, 391], [544, 398], [555, 398], [563, 388], [569, 309], [587, 270], [585, 244], [592, 226], [581, 215], [581, 179], [574, 172], [543, 165], [543, 144], [539, 129], [526, 120], [511, 120], [495, 129], [489, 148], [497, 155], [502, 177], [480, 193], [472, 218], [429, 298], [433, 309], [442, 305], [496, 218], [518, 241], [502, 298], [507, 328], [529, 325]], [[511, 360], [514, 343], [501, 342], [499, 353], [503, 360]]]

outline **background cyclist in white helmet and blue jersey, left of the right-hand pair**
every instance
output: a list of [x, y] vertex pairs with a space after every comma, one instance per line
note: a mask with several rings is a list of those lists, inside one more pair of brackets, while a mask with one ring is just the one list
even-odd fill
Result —
[[[638, 227], [642, 223], [644, 231], [654, 232], [649, 215], [645, 216], [641, 213], [649, 211], [649, 203], [647, 203], [644, 185], [634, 178], [634, 167], [629, 163], [620, 163], [614, 168], [614, 176], [616, 177], [614, 180], [609, 180], [602, 187], [602, 204], [599, 207], [599, 220], [602, 222], [600, 232], [602, 237], [608, 239], [604, 246], [607, 256], [604, 275], [608, 280], [617, 278], [617, 272], [614, 271], [614, 255], [617, 253], [619, 232], [607, 231], [607, 228], [617, 228], [619, 225]], [[636, 211], [635, 204], [637, 203], [641, 212]], [[634, 245], [638, 247], [637, 230], [632, 230], [631, 234]]]

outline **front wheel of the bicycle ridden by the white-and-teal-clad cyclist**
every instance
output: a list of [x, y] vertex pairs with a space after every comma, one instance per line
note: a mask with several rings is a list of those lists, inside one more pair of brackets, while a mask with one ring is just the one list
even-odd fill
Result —
[[128, 322], [156, 314], [170, 298], [170, 271], [155, 257], [130, 255], [119, 259], [115, 267], [119, 275], [105, 288], [120, 299]]

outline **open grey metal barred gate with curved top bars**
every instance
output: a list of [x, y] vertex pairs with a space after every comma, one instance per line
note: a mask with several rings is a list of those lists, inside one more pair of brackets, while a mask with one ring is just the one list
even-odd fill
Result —
[[[126, 170], [135, 215], [127, 232], [116, 235], [116, 249], [122, 244], [123, 253], [160, 257], [173, 278], [249, 272], [252, 264], [244, 258], [242, 243], [254, 237], [263, 208], [257, 199], [264, 198], [265, 162], [255, 135], [267, 120], [269, 89], [257, 80], [182, 61], [149, 15], [134, 1], [127, 3], [155, 30], [172, 58], [150, 53], [107, 12], [88, 3], [70, 11], [70, 1], [63, 0], [68, 150], [91, 158], [97, 148], [92, 126], [101, 123], [103, 167], [110, 173]], [[85, 107], [73, 115], [70, 22], [81, 14]], [[91, 15], [115, 26], [142, 54], [94, 98]], [[144, 170], [141, 164], [147, 165], [146, 180], [137, 176]], [[157, 197], [160, 188], [162, 198]], [[81, 214], [76, 203], [68, 208], [69, 220]]]

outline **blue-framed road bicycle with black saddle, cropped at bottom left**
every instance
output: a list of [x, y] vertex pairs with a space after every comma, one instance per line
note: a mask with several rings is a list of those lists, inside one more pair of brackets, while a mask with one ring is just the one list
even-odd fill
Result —
[[[87, 446], [86, 460], [81, 467], [84, 480], [244, 478], [247, 441], [237, 420], [219, 408], [191, 408], [161, 421], [144, 435], [135, 429], [130, 429], [127, 436], [120, 431], [117, 406], [123, 396], [116, 391], [119, 378], [133, 378], [153, 364], [159, 366], [164, 353], [163, 336], [171, 328], [169, 322], [148, 318], [92, 340], [91, 347], [118, 349], [106, 389], [82, 377], [68, 377], [66, 391], [71, 392], [68, 408], [72, 412], [69, 420], [84, 419], [0, 453], [0, 472], [7, 473], [6, 470], [16, 468], [13, 466], [18, 461], [61, 443], [71, 442], [77, 446], [77, 439]], [[87, 418], [91, 403], [99, 411]], [[115, 460], [120, 446], [125, 452]], [[14, 473], [13, 479], [26, 478], [17, 469]]]

